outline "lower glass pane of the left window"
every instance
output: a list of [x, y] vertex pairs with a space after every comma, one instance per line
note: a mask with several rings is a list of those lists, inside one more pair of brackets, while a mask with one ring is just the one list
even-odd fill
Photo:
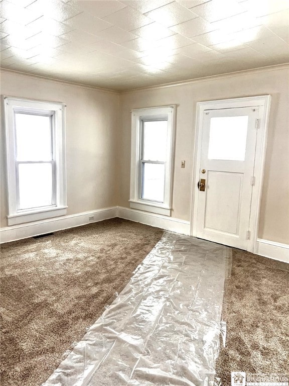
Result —
[[19, 209], [52, 205], [52, 164], [19, 164]]

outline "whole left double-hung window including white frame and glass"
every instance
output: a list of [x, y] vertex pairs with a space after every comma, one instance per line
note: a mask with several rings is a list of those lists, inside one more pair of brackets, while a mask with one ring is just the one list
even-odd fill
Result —
[[8, 225], [66, 214], [64, 104], [4, 97]]

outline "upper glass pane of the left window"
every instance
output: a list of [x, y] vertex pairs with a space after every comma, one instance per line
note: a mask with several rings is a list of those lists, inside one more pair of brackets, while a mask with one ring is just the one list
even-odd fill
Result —
[[49, 161], [52, 159], [50, 117], [15, 114], [18, 161]]

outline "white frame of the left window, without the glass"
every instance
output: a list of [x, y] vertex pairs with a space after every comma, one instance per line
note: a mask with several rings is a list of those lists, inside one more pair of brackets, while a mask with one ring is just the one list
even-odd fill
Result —
[[[66, 215], [65, 105], [3, 96], [7, 145], [8, 225]], [[52, 116], [53, 205], [30, 209], [19, 208], [16, 159], [15, 113], [25, 112]]]

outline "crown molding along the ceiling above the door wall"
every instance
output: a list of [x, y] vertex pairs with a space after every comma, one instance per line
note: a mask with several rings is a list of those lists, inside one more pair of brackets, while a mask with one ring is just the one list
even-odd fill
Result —
[[288, 68], [289, 68], [289, 63], [274, 64], [272, 66], [264, 66], [264, 67], [250, 68], [250, 69], [241, 70], [241, 71], [226, 72], [224, 74], [203, 76], [200, 78], [187, 79], [187, 80], [182, 80], [179, 82], [170, 82], [170, 83], [163, 83], [163, 84], [159, 84], [159, 85], [155, 85], [155, 86], [133, 88], [133, 89], [129, 89], [129, 90], [120, 91], [119, 93], [120, 93], [120, 95], [122, 95], [122, 94], [130, 94], [130, 93], [139, 92], [139, 91], [158, 90], [161, 88], [182, 86], [184, 84], [207, 82], [207, 81], [211, 81], [211, 80], [225, 79], [225, 78], [231, 78], [231, 77], [236, 77], [236, 76], [244, 76], [244, 75], [248, 75], [248, 74], [255, 74], [255, 73], [261, 73], [261, 72], [267, 72], [267, 71], [277, 71], [277, 70], [283, 70], [283, 69], [288, 69]]

